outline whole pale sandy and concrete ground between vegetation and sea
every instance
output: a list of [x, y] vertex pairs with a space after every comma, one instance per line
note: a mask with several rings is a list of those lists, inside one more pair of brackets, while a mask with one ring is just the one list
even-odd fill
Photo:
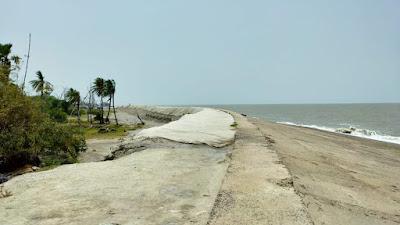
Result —
[[400, 145], [215, 109], [119, 113], [151, 126], [4, 183], [0, 224], [400, 223]]

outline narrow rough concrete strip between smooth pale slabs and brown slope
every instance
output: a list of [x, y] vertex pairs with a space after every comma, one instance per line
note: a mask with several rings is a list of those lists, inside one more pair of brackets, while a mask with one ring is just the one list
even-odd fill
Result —
[[239, 124], [232, 159], [209, 225], [312, 224], [288, 170], [258, 127]]

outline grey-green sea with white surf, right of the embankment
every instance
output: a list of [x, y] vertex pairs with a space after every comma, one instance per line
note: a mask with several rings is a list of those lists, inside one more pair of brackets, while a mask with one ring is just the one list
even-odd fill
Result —
[[353, 128], [351, 135], [400, 144], [400, 103], [209, 105], [289, 125], [335, 132]]

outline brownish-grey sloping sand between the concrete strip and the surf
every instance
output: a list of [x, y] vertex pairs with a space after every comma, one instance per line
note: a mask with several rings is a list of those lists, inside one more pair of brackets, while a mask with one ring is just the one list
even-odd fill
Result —
[[399, 224], [400, 145], [251, 119], [314, 224]]

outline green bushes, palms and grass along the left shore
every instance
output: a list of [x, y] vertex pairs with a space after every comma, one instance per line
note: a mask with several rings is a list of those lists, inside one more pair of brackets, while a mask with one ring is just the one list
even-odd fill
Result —
[[29, 81], [37, 95], [30, 96], [17, 79], [20, 65], [12, 44], [0, 44], [1, 182], [24, 170], [76, 163], [87, 148], [85, 139], [121, 137], [134, 129], [118, 123], [114, 80], [96, 78], [86, 96], [69, 88], [56, 97], [37, 71]]

